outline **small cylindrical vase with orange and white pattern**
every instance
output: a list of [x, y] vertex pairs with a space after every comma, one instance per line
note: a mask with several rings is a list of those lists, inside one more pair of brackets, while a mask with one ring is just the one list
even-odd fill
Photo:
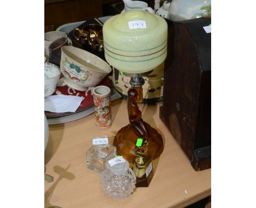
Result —
[[110, 88], [100, 85], [92, 90], [94, 109], [98, 129], [108, 129], [112, 124]]

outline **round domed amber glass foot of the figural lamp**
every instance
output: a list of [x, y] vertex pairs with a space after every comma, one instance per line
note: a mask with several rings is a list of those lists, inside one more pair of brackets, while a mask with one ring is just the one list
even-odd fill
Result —
[[[162, 136], [152, 126], [143, 121], [148, 129], [148, 155], [155, 160], [164, 150]], [[130, 124], [121, 128], [115, 135], [113, 145], [117, 147], [117, 155], [123, 156], [129, 163], [135, 158], [135, 144], [138, 136], [132, 131]]]

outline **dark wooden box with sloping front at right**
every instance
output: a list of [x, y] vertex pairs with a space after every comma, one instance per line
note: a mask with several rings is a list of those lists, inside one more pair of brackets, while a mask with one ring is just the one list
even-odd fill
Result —
[[211, 168], [211, 19], [168, 23], [160, 118], [195, 170]]

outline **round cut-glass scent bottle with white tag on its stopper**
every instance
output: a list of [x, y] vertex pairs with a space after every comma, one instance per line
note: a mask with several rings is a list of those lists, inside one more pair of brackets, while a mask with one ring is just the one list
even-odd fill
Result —
[[101, 173], [101, 190], [107, 197], [128, 197], [135, 184], [136, 176], [123, 157], [115, 157], [106, 163], [106, 169]]

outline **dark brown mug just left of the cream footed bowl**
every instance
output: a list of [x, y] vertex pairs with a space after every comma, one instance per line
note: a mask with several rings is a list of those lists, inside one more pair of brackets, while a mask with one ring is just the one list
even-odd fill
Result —
[[60, 38], [51, 43], [49, 46], [49, 62], [60, 67], [61, 47], [67, 46], [67, 38]]

